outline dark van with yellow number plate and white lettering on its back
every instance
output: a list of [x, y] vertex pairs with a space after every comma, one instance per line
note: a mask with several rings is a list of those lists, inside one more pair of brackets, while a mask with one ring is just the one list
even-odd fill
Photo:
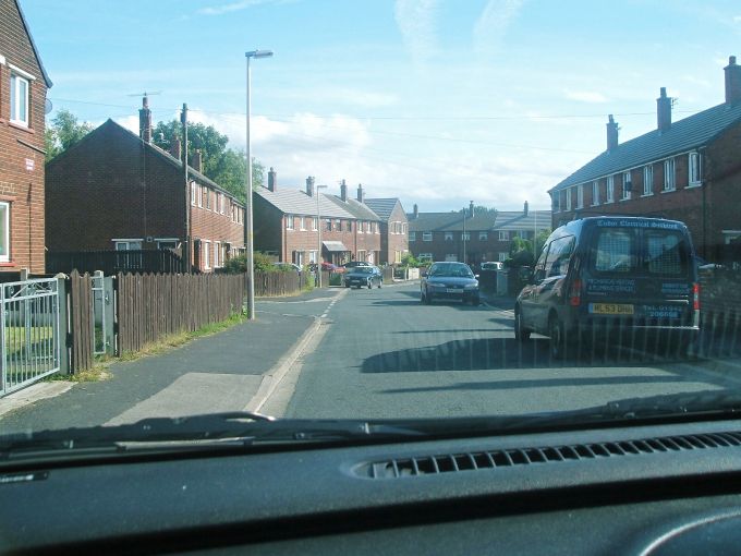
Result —
[[584, 340], [646, 341], [660, 335], [693, 346], [700, 285], [684, 223], [658, 218], [593, 217], [554, 231], [514, 305], [514, 336], [550, 338], [562, 358]]

